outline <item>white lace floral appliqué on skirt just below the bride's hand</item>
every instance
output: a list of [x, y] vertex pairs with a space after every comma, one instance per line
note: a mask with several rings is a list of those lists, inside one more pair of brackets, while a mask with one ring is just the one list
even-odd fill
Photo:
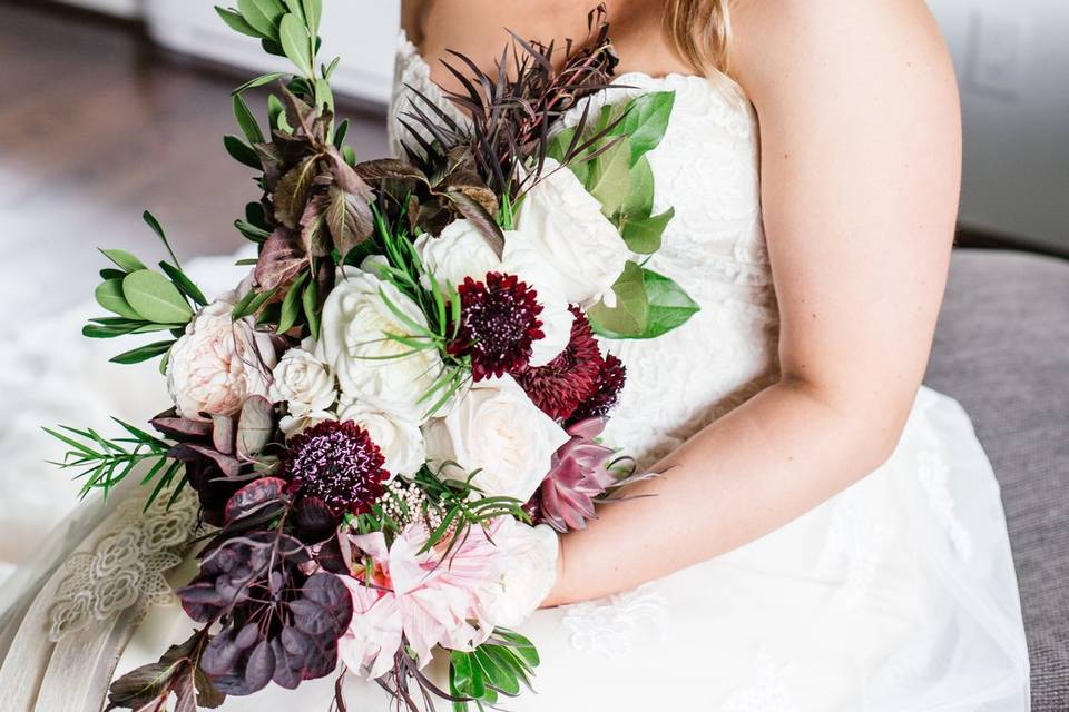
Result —
[[644, 627], [664, 639], [668, 605], [651, 584], [571, 606], [561, 621], [578, 651], [620, 659], [630, 654]]

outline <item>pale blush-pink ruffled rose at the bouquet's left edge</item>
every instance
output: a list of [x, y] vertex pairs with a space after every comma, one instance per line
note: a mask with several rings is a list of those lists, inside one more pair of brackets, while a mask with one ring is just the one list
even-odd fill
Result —
[[170, 348], [167, 390], [184, 418], [234, 415], [248, 397], [268, 395], [271, 336], [257, 332], [252, 317], [233, 320], [231, 296], [204, 307]]

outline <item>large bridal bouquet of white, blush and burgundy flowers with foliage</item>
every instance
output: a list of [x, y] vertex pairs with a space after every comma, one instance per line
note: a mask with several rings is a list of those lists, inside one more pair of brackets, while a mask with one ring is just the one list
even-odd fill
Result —
[[[235, 226], [258, 256], [209, 300], [146, 212], [171, 259], [101, 250], [110, 315], [85, 335], [164, 335], [112, 360], [161, 357], [174, 405], [114, 439], [49, 431], [84, 493], [141, 468], [146, 508], [199, 501], [199, 572], [176, 591], [198, 626], [109, 709], [212, 708], [339, 662], [402, 709], [493, 705], [538, 665], [512, 627], [553, 585], [558, 533], [641, 476], [599, 442], [626, 377], [599, 337], [697, 309], [641, 264], [671, 219], [646, 154], [673, 95], [582, 101], [616, 86], [599, 8], [582, 42], [513, 36], [494, 75], [452, 55], [470, 119], [416, 93], [405, 156], [361, 161], [337, 59], [317, 63], [320, 1], [217, 10], [296, 68], [232, 97], [244, 138], [224, 144], [261, 194]], [[267, 85], [264, 127], [244, 96]], [[444, 682], [423, 672], [434, 655]]]

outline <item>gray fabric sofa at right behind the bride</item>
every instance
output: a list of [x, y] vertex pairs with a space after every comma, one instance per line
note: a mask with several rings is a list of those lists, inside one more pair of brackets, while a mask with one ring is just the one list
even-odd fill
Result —
[[1032, 710], [1069, 710], [1069, 261], [959, 249], [925, 383], [972, 416], [1002, 486]]

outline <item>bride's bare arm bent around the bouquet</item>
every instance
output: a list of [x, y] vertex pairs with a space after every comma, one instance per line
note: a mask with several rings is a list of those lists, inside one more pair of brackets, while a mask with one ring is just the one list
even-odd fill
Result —
[[921, 0], [752, 0], [782, 378], [561, 540], [546, 605], [626, 590], [796, 518], [894, 449], [924, 374], [960, 179], [953, 72]]

